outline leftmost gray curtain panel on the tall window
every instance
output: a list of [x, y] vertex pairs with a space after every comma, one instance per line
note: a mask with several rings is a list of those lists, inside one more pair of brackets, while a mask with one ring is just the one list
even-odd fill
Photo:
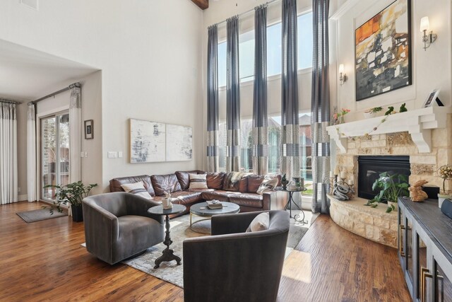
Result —
[[218, 26], [208, 28], [207, 170], [218, 171]]

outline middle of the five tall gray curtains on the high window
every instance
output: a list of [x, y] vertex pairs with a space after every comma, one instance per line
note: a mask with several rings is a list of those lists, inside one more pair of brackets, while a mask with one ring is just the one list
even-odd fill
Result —
[[254, 13], [253, 172], [268, 173], [267, 6]]

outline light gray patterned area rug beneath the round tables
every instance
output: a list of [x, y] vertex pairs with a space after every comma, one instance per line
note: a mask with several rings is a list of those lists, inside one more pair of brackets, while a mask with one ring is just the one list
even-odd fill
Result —
[[[298, 214], [298, 212], [299, 211], [292, 211], [292, 216], [294, 214]], [[290, 252], [292, 252], [292, 250], [298, 245], [299, 241], [304, 236], [304, 233], [307, 232], [309, 226], [311, 226], [312, 222], [317, 218], [317, 216], [319, 215], [305, 211], [305, 221], [307, 221], [307, 224], [298, 223], [294, 219], [290, 219], [289, 238], [287, 239], [287, 248], [285, 252], [286, 258], [290, 254]], [[191, 231], [191, 229], [189, 228], [189, 215], [184, 215], [177, 217], [176, 219], [172, 219], [171, 221], [169, 221], [169, 224], [169, 231], [172, 240], [172, 245], [170, 246], [170, 248], [174, 250], [174, 254], [178, 255], [179, 257], [182, 257], [182, 242], [184, 241], [184, 239], [206, 236], [201, 233]], [[210, 230], [210, 220], [195, 223], [194, 226], [196, 226], [196, 228], [204, 228]], [[183, 288], [183, 265], [177, 265], [175, 261], [162, 262], [159, 268], [154, 269], [155, 260], [160, 257], [160, 255], [162, 255], [162, 250], [164, 250], [165, 248], [166, 245], [160, 243], [153, 246], [152, 248], [148, 248], [148, 250], [146, 250], [144, 254], [139, 255], [138, 257], [135, 257], [131, 260], [126, 260], [122, 263]], [[182, 262], [184, 262], [184, 259], [182, 259]]]

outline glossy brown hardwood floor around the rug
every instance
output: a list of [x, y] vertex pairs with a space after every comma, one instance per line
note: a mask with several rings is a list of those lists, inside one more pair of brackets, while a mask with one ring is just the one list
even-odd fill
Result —
[[[0, 301], [183, 301], [184, 291], [86, 252], [83, 223], [68, 217], [25, 223], [0, 206]], [[278, 301], [410, 301], [396, 250], [320, 216], [287, 258]]]

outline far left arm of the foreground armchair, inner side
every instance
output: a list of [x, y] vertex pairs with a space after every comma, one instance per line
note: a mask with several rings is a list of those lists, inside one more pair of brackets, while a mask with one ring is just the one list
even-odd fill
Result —
[[244, 233], [254, 217], [261, 211], [253, 211], [239, 214], [223, 214], [212, 216], [212, 235], [231, 233]]

